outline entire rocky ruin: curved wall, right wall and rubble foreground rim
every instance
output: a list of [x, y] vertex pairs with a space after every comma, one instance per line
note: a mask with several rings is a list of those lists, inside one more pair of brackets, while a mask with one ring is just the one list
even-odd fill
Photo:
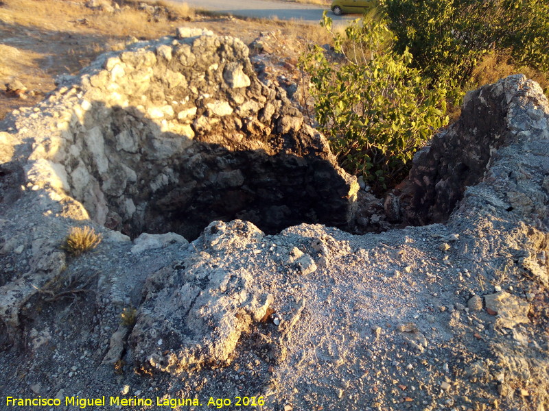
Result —
[[[358, 184], [247, 53], [180, 29], [5, 122], [5, 386], [199, 397], [196, 410], [235, 395], [266, 410], [547, 407], [539, 86], [515, 75], [470, 92], [416, 155], [406, 218], [444, 225], [353, 236], [326, 225], [352, 221]], [[325, 225], [284, 228], [294, 219]], [[73, 225], [104, 240], [67, 256]]]

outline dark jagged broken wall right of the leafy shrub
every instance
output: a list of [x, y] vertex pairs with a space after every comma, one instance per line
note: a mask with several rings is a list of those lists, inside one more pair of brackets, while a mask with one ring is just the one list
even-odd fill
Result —
[[[486, 177], [498, 149], [528, 138], [549, 138], [548, 119], [544, 113], [546, 100], [537, 84], [524, 75], [502, 79], [471, 91], [465, 98], [463, 111], [456, 123], [436, 134], [430, 146], [419, 151], [413, 160], [407, 192], [411, 201], [407, 219], [414, 225], [447, 221], [467, 187]], [[547, 175], [549, 166], [540, 170]], [[517, 171], [515, 171], [517, 173]], [[496, 176], [493, 181], [497, 184]], [[526, 176], [525, 176], [526, 178]], [[521, 188], [506, 193], [506, 208], [528, 207], [528, 198], [544, 203], [543, 192]], [[538, 219], [547, 219], [546, 208], [534, 207], [530, 212]], [[549, 225], [549, 221], [546, 221]]]

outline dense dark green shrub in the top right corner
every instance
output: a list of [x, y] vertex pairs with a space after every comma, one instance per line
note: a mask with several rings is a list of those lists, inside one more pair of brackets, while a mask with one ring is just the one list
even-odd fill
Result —
[[519, 66], [549, 70], [547, 0], [382, 0], [395, 50], [413, 66], [463, 85], [482, 56], [508, 51]]

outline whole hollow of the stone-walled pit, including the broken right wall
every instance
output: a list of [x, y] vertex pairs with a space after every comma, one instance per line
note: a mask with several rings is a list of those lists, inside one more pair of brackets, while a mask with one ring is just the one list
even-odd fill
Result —
[[299, 223], [358, 234], [443, 223], [523, 127], [502, 120], [509, 102], [491, 88], [470, 93], [466, 115], [415, 156], [404, 190], [382, 205], [358, 192], [286, 92], [258, 79], [238, 39], [178, 29], [104, 54], [59, 86], [40, 104], [52, 132], [33, 136], [28, 182], [132, 238], [194, 240], [211, 221], [234, 219], [267, 234]]

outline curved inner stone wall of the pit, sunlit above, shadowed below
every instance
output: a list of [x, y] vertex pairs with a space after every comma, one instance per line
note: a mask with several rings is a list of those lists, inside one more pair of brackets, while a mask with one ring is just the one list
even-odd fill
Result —
[[213, 220], [274, 233], [353, 219], [354, 177], [240, 40], [180, 29], [64, 81], [78, 103], [46, 166], [97, 223], [193, 240]]

